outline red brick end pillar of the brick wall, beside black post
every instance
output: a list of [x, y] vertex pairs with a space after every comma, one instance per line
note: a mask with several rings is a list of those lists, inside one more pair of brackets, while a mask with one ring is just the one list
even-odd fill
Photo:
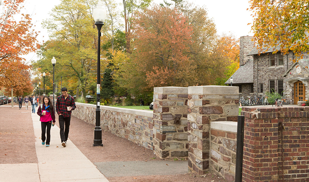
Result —
[[243, 182], [278, 182], [278, 109], [242, 108]]

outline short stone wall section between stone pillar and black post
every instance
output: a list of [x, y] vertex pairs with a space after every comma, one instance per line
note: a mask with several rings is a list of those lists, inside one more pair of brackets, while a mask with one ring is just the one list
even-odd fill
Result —
[[211, 122], [210, 170], [224, 177], [228, 182], [235, 181], [237, 122]]

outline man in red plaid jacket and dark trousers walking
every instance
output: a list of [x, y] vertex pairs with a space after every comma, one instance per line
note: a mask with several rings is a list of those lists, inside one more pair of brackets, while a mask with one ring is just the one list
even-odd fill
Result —
[[59, 115], [61, 145], [66, 147], [69, 136], [71, 113], [76, 106], [74, 98], [68, 94], [68, 89], [66, 87], [61, 88], [61, 93], [62, 95], [57, 97], [56, 112]]

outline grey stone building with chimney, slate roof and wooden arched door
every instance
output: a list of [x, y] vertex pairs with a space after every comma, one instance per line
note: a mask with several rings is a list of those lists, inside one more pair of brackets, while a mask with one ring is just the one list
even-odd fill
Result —
[[[240, 37], [239, 69], [231, 76], [233, 86], [239, 86], [239, 96], [261, 96], [274, 90], [289, 99], [291, 104], [308, 99], [308, 52], [304, 52], [303, 59], [298, 62], [293, 62], [295, 56], [292, 51], [286, 55], [280, 51], [272, 53], [280, 47], [259, 54], [252, 38]], [[231, 78], [226, 84], [231, 85]]]

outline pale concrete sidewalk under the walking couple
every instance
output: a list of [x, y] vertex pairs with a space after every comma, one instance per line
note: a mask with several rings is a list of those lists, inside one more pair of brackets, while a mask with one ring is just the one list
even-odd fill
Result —
[[70, 140], [61, 146], [57, 126], [50, 147], [42, 145], [39, 116], [32, 114], [32, 120], [38, 164], [0, 164], [0, 182], [109, 182]]

